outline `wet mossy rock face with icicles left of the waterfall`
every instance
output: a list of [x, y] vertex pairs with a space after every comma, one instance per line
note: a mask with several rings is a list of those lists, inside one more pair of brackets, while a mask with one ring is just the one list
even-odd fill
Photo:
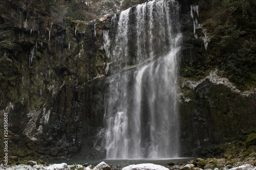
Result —
[[15, 133], [11, 153], [16, 154], [14, 145], [26, 145], [33, 153], [24, 151], [23, 157], [74, 158], [84, 150], [85, 158], [102, 127], [103, 79], [95, 78], [108, 74], [101, 33], [110, 28], [112, 16], [96, 22], [58, 18], [34, 1], [4, 1], [0, 9], [1, 24], [13, 30], [16, 46], [0, 61], [0, 108], [9, 113]]

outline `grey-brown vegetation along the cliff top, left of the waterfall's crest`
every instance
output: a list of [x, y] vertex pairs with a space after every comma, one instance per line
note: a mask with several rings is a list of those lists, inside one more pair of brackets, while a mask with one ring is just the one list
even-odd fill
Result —
[[57, 12], [62, 17], [90, 21], [105, 14], [115, 14], [149, 0], [36, 0], [35, 6], [47, 13]]

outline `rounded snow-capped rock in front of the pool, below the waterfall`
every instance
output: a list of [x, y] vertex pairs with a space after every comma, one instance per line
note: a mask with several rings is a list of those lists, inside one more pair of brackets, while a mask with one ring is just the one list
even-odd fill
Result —
[[168, 168], [161, 166], [161, 165], [155, 165], [153, 163], [142, 163], [137, 165], [129, 165], [122, 168], [122, 170], [169, 170]]

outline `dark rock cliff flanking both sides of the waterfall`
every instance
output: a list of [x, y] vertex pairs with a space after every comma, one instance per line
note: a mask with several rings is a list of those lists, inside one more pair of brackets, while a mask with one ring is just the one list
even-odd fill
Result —
[[[202, 23], [209, 17], [209, 1], [179, 2], [183, 32], [180, 69], [204, 66], [210, 48], [206, 51], [203, 40], [194, 37], [190, 5], [199, 5]], [[7, 57], [1, 53], [0, 60], [4, 76], [0, 79], [0, 109], [1, 116], [9, 113], [10, 155], [104, 158], [104, 149], [96, 147], [100, 141], [94, 142], [103, 127], [105, 110], [104, 76], [108, 72], [103, 63], [110, 63], [102, 48], [103, 30], [111, 28], [112, 16], [92, 22], [59, 18], [41, 10], [34, 1], [4, 1], [0, 7], [0, 21], [13, 31], [15, 44]], [[199, 148], [243, 139], [247, 130], [256, 127], [255, 96], [242, 96], [208, 80], [190, 89], [182, 79], [182, 156], [211, 154]]]

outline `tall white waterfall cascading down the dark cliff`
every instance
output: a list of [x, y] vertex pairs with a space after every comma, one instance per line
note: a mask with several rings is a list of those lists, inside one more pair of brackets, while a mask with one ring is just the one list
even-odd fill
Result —
[[117, 34], [105, 49], [112, 60], [106, 81], [106, 158], [178, 157], [179, 4], [150, 1], [112, 22]]

